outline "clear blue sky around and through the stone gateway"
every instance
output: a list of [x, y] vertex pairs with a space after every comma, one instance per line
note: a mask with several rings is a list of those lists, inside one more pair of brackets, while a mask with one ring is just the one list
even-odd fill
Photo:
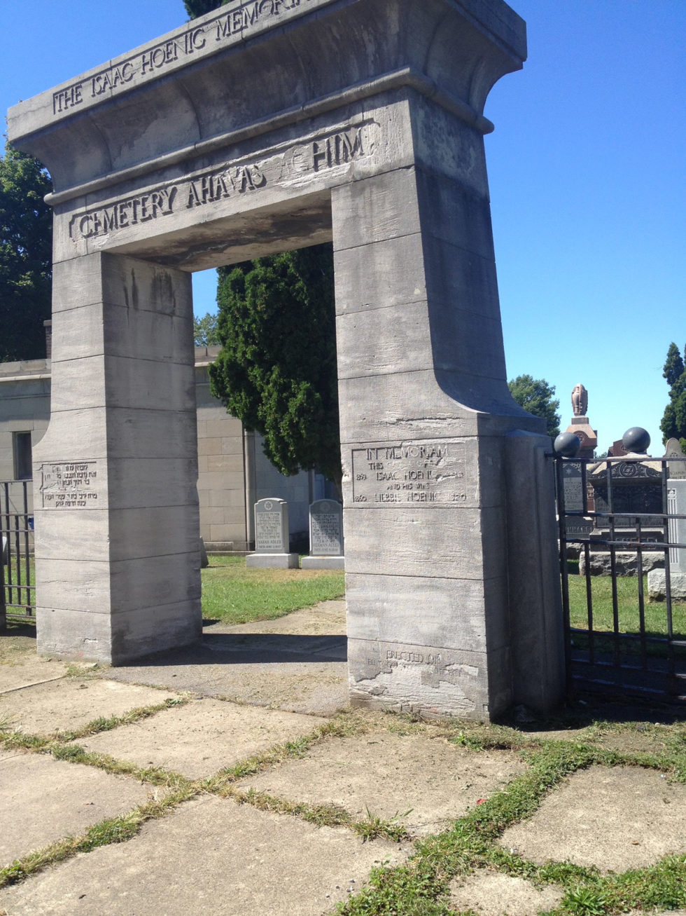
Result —
[[[417, 0], [421, 2], [421, 0]], [[660, 453], [662, 365], [686, 344], [686, 0], [517, 0], [529, 60], [486, 107], [509, 377], [582, 382], [605, 450]], [[183, 24], [181, 0], [0, 0], [0, 109]], [[213, 272], [194, 278], [214, 311]]]

